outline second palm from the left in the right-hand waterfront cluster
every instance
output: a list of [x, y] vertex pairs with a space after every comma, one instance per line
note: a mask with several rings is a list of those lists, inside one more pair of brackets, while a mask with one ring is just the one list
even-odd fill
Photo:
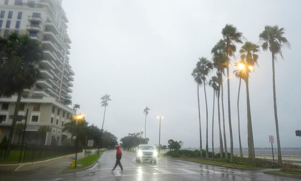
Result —
[[206, 103], [206, 159], [209, 158], [208, 155], [208, 107], [207, 107], [207, 95], [206, 95], [206, 77], [213, 69], [213, 64], [207, 58], [199, 58], [197, 62], [197, 67], [200, 72], [200, 78], [203, 81], [204, 93], [205, 93], [205, 103]]

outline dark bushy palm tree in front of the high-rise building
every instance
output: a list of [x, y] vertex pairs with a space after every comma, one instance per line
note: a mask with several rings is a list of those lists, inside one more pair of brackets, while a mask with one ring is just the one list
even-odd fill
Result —
[[[4, 82], [9, 82], [10, 85], [4, 86], [4, 93], [11, 90], [11, 95], [18, 94], [14, 110], [14, 116], [18, 116], [23, 90], [33, 88], [39, 79], [40, 71], [36, 65], [43, 59], [42, 45], [39, 41], [32, 41], [28, 35], [16, 33], [10, 33], [5, 39], [1, 37], [0, 42], [2, 42], [0, 72], [6, 75]], [[1, 92], [3, 94], [3, 91]], [[12, 142], [16, 122], [16, 119], [12, 121], [8, 144]]]

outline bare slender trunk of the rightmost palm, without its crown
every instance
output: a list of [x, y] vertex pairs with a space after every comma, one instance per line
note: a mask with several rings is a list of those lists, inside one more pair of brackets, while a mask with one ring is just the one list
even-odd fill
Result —
[[273, 98], [274, 98], [274, 114], [276, 124], [277, 146], [278, 146], [278, 163], [282, 164], [281, 147], [278, 128], [277, 104], [276, 104], [276, 85], [275, 85], [275, 54], [272, 52], [272, 69], [273, 69]]

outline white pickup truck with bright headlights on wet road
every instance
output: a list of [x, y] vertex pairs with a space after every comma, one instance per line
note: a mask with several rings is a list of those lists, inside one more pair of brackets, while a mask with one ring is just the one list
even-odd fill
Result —
[[157, 150], [153, 145], [141, 144], [136, 149], [136, 162], [150, 161], [157, 164]]

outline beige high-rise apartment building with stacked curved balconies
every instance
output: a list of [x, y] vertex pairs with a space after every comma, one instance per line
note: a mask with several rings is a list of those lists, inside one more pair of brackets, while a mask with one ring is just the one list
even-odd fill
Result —
[[[71, 81], [74, 72], [69, 64], [71, 40], [67, 34], [68, 19], [61, 6], [62, 0], [0, 0], [0, 36], [10, 32], [28, 34], [33, 40], [42, 42], [44, 59], [37, 65], [41, 77], [31, 90], [24, 90], [19, 109], [25, 116], [29, 109], [25, 141], [27, 143], [57, 145], [70, 139], [70, 134], [62, 132], [69, 122], [73, 109], [63, 104], [72, 99]], [[1, 86], [1, 85], [0, 85]], [[17, 96], [0, 99], [0, 141], [9, 135]], [[23, 122], [24, 120], [19, 120]], [[18, 123], [18, 122], [17, 122]], [[51, 128], [46, 137], [38, 133], [40, 126]], [[15, 132], [13, 143], [19, 140], [20, 132]]]

